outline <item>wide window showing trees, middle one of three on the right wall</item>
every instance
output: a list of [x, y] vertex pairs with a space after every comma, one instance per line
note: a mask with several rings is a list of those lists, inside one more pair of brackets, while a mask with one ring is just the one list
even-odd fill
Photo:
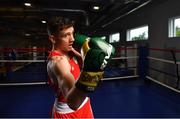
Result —
[[139, 41], [148, 39], [148, 26], [129, 29], [127, 31], [127, 41]]

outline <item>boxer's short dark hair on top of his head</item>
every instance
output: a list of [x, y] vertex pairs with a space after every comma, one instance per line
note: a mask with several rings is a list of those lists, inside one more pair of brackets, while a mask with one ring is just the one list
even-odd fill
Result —
[[59, 31], [74, 26], [74, 21], [66, 17], [56, 16], [47, 23], [48, 35], [54, 35]]

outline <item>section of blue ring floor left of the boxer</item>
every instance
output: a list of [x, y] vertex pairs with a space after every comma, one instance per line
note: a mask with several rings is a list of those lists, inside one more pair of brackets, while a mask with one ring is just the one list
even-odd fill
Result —
[[47, 85], [0, 87], [1, 118], [49, 118], [54, 93]]

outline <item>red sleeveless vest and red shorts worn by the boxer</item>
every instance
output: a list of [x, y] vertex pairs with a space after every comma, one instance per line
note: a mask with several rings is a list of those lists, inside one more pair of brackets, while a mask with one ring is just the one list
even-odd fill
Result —
[[[59, 52], [50, 52], [50, 55], [48, 58], [51, 58], [53, 56], [61, 56], [61, 54]], [[74, 79], [77, 80], [80, 74], [80, 68], [78, 65], [77, 60], [74, 59], [74, 57], [70, 57], [69, 59], [69, 64], [71, 65], [71, 73], [74, 76]], [[58, 93], [58, 86], [55, 86], [57, 90], [56, 93]], [[58, 102], [65, 102], [66, 100], [63, 97], [62, 93], [60, 92], [58, 94]], [[53, 107], [52, 110], [52, 117], [53, 118], [91, 118], [93, 119], [93, 112], [92, 112], [92, 108], [91, 108], [91, 104], [90, 104], [90, 99], [87, 98], [87, 101], [84, 101], [85, 103], [82, 105], [82, 107], [80, 107], [79, 109], [77, 109], [76, 111], [70, 112], [70, 113], [61, 113], [58, 112], [58, 110], [56, 110], [55, 107]]]

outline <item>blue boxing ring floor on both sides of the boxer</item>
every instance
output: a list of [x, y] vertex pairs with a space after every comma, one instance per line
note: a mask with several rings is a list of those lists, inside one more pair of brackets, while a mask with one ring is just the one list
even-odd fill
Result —
[[[89, 94], [96, 118], [179, 118], [180, 94], [139, 79], [103, 81]], [[154, 88], [156, 87], [156, 88]], [[0, 87], [0, 117], [49, 118], [47, 85]]]

